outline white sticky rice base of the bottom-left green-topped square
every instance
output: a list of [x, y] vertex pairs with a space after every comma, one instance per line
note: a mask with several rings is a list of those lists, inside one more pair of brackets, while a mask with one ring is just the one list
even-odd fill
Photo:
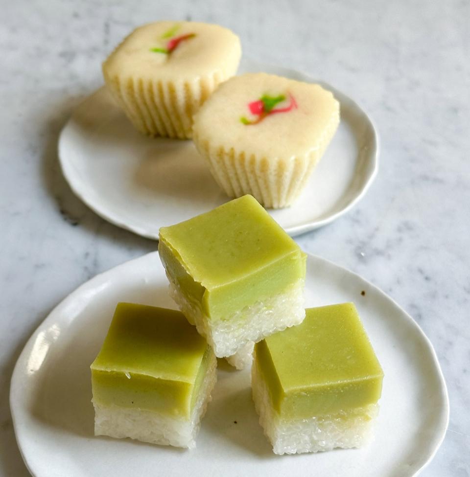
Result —
[[217, 380], [217, 360], [210, 358], [204, 382], [189, 419], [171, 417], [145, 409], [129, 409], [119, 406], [94, 404], [94, 434], [118, 439], [130, 437], [143, 442], [165, 446], [196, 447], [200, 422], [211, 401], [211, 391]]

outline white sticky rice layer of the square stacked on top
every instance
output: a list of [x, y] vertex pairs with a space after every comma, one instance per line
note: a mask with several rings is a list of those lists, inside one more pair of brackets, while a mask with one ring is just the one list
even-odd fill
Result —
[[186, 299], [167, 274], [170, 295], [190, 323], [212, 346], [217, 358], [226, 358], [247, 345], [258, 342], [277, 331], [302, 323], [305, 318], [304, 280], [300, 279], [284, 293], [257, 301], [224, 319], [208, 318]]

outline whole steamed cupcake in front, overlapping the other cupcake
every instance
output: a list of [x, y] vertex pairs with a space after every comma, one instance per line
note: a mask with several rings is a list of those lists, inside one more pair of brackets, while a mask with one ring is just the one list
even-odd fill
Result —
[[211, 95], [193, 140], [229, 197], [280, 208], [301, 193], [338, 124], [339, 103], [320, 85], [249, 73]]

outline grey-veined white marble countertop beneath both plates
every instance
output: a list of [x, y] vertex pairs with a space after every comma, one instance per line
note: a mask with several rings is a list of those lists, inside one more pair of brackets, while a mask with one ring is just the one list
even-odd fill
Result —
[[28, 476], [8, 404], [33, 330], [78, 285], [156, 243], [71, 192], [57, 137], [135, 25], [221, 23], [244, 51], [305, 70], [360, 102], [381, 136], [376, 182], [348, 215], [297, 238], [391, 295], [433, 342], [446, 439], [426, 477], [470, 476], [470, 1], [16, 1], [0, 23], [0, 476]]

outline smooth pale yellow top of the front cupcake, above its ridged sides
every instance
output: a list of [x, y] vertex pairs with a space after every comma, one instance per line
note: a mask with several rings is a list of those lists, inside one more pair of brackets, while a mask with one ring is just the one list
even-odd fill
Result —
[[320, 85], [266, 73], [235, 76], [194, 116], [204, 148], [257, 157], [303, 157], [322, 147], [339, 121], [339, 103]]

